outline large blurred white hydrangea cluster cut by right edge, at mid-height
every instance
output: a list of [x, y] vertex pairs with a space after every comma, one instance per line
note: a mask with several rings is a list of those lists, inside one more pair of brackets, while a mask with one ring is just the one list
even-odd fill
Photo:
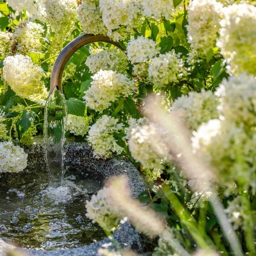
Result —
[[256, 125], [256, 79], [242, 74], [223, 80], [215, 94], [220, 98], [218, 110], [227, 121]]

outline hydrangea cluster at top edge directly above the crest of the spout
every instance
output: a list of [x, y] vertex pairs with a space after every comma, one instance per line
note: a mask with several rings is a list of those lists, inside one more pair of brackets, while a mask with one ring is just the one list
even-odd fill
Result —
[[83, 0], [77, 8], [77, 13], [84, 33], [94, 35], [107, 33], [99, 10], [99, 0]]

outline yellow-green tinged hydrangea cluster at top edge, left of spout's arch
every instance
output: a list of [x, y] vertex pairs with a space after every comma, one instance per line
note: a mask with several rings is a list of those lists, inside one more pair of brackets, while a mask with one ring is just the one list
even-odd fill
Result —
[[77, 19], [76, 0], [44, 0], [47, 20], [57, 34], [71, 33]]

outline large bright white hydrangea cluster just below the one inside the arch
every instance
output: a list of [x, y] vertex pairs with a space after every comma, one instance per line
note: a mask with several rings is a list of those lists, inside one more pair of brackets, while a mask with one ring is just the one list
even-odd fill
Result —
[[112, 70], [100, 70], [92, 76], [92, 85], [84, 93], [86, 106], [102, 113], [118, 97], [132, 94], [135, 81]]

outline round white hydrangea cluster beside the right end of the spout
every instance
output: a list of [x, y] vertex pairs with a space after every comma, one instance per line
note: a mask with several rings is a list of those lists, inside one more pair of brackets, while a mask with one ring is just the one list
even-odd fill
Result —
[[144, 36], [139, 36], [127, 44], [127, 57], [132, 64], [148, 61], [159, 53], [156, 42]]

